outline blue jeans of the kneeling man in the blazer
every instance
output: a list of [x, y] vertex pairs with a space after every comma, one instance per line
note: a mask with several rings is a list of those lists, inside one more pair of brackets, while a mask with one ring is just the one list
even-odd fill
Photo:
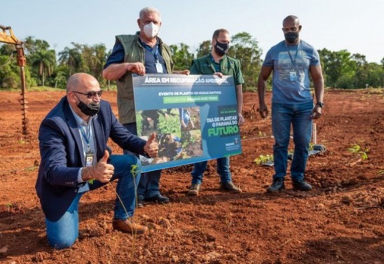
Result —
[[[114, 218], [125, 220], [132, 217], [135, 212], [135, 189], [140, 180], [140, 173], [135, 178], [130, 173], [131, 165], [137, 165], [138, 171], [141, 170], [141, 166], [139, 160], [132, 155], [111, 155], [108, 163], [115, 167], [111, 181], [118, 179], [116, 192], [124, 204], [123, 206], [120, 200], [116, 198]], [[90, 184], [90, 190], [95, 190], [106, 184], [94, 181]], [[58, 221], [53, 222], [46, 218], [48, 243], [55, 249], [67, 248], [76, 241], [78, 237], [78, 201], [82, 195], [83, 193], [76, 195], [65, 214]]]

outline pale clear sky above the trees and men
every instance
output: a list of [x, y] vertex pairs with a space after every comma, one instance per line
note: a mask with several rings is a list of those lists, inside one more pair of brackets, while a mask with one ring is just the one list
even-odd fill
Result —
[[162, 17], [159, 36], [168, 45], [185, 43], [195, 53], [215, 29], [247, 32], [263, 50], [284, 39], [282, 20], [299, 17], [300, 37], [317, 50], [348, 50], [380, 63], [384, 57], [384, 0], [0, 0], [0, 25], [18, 39], [34, 36], [57, 53], [71, 42], [104, 43], [138, 30], [139, 11], [151, 6]]

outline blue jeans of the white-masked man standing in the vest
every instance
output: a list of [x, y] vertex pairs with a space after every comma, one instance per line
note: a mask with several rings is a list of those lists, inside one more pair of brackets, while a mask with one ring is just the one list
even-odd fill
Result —
[[[136, 123], [124, 124], [124, 126], [129, 132], [137, 135]], [[137, 154], [127, 150], [124, 150], [123, 152], [124, 154], [137, 156]], [[139, 186], [137, 186], [137, 198], [144, 200], [160, 195], [160, 176], [161, 169], [153, 172], [143, 173], [139, 182]]]

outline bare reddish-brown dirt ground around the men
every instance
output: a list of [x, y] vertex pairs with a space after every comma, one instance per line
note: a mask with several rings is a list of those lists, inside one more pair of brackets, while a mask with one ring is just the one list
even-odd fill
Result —
[[[34, 183], [39, 125], [64, 92], [27, 94], [29, 139], [21, 134], [20, 94], [0, 95], [0, 263], [384, 263], [383, 93], [327, 90], [317, 121], [327, 152], [311, 156], [306, 172], [314, 190], [293, 191], [288, 175], [278, 194], [265, 192], [273, 168], [254, 162], [272, 154], [270, 119], [261, 120], [257, 95], [247, 93], [242, 154], [231, 157], [243, 193], [219, 190], [215, 162], [198, 197], [186, 197], [191, 165], [167, 169], [161, 190], [172, 202], [137, 209], [135, 221], [151, 229], [132, 237], [112, 230], [115, 194], [107, 186], [82, 197], [79, 239], [61, 251], [46, 242]], [[103, 99], [117, 114], [116, 92]], [[368, 159], [348, 151], [352, 144]]]

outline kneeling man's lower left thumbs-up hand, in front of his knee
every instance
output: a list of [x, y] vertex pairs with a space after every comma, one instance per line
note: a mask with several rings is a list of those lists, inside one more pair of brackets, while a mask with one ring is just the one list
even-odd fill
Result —
[[105, 151], [104, 156], [96, 165], [92, 167], [83, 168], [83, 175], [81, 178], [83, 181], [88, 181], [90, 179], [95, 179], [101, 181], [102, 183], [107, 183], [114, 176], [114, 166], [107, 163], [109, 159], [109, 152]]

